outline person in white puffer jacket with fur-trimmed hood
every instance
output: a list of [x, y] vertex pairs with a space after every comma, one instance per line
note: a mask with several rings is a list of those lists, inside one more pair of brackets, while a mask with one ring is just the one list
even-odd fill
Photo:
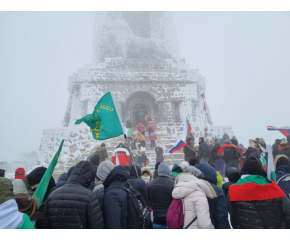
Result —
[[207, 197], [215, 198], [217, 194], [209, 183], [188, 173], [179, 174], [175, 179], [172, 197], [182, 199], [183, 228], [197, 218], [188, 229], [214, 229], [210, 219]]

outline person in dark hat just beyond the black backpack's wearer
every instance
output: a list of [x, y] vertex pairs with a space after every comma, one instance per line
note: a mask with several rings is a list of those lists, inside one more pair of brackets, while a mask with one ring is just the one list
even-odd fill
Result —
[[128, 179], [128, 183], [135, 190], [141, 193], [144, 199], [147, 201], [147, 186], [146, 183], [141, 180], [141, 168], [138, 165], [131, 165], [129, 167], [130, 177]]

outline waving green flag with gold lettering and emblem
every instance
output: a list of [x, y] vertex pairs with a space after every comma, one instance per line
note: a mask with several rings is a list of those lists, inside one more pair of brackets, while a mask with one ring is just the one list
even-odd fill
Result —
[[104, 140], [124, 134], [121, 121], [111, 92], [106, 93], [94, 112], [78, 119], [75, 124], [85, 122], [90, 128], [94, 139]]

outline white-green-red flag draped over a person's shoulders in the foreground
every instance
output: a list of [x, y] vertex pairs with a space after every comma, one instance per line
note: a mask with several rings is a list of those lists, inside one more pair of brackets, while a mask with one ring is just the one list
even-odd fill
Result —
[[242, 175], [229, 188], [230, 201], [258, 201], [285, 197], [283, 190], [273, 181], [260, 175]]

